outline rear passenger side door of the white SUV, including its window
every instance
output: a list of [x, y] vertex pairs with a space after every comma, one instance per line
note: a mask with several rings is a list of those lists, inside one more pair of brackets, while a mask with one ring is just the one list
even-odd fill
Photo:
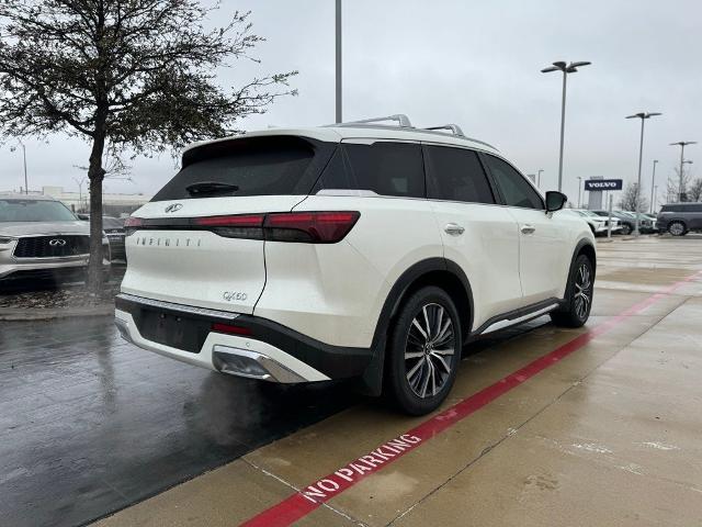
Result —
[[427, 195], [444, 256], [461, 266], [471, 281], [475, 329], [522, 303], [517, 222], [507, 209], [496, 205], [476, 152], [424, 144], [423, 154]]

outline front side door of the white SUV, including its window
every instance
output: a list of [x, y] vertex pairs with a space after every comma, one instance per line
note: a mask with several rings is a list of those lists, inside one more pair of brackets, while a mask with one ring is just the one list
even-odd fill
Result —
[[489, 154], [483, 158], [506, 210], [518, 224], [523, 304], [558, 296], [570, 265], [567, 228], [559, 225], [557, 216], [546, 214], [543, 199], [516, 168]]

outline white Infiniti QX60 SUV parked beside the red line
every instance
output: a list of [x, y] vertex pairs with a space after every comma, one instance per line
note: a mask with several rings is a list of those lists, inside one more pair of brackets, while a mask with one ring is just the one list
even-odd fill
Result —
[[595, 240], [565, 201], [457, 126], [405, 115], [196, 144], [127, 221], [115, 323], [192, 365], [355, 377], [423, 414], [466, 343], [545, 313], [588, 319]]

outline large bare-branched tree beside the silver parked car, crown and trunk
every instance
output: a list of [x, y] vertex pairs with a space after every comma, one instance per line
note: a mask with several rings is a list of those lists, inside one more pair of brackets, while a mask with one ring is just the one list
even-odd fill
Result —
[[64, 132], [90, 145], [93, 291], [106, 144], [115, 153], [180, 148], [234, 133], [238, 117], [295, 93], [286, 87], [296, 71], [218, 86], [216, 68], [251, 58], [263, 38], [251, 32], [249, 13], [206, 30], [217, 9], [197, 0], [0, 0], [0, 134]]

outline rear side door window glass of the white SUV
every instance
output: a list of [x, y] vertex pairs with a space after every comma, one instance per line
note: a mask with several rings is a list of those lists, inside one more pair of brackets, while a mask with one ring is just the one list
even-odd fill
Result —
[[475, 152], [424, 146], [424, 166], [428, 198], [495, 203], [490, 183]]

